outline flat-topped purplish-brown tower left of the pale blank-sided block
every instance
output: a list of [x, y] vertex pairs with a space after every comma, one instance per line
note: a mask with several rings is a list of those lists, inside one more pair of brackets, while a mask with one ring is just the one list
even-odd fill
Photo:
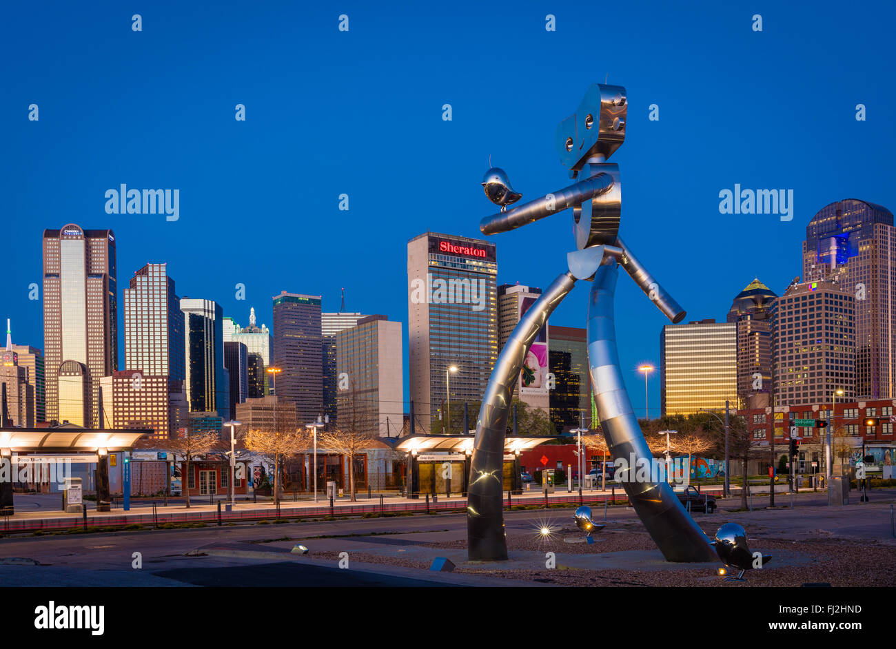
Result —
[[273, 298], [277, 396], [296, 404], [300, 424], [323, 414], [321, 296], [283, 291]]

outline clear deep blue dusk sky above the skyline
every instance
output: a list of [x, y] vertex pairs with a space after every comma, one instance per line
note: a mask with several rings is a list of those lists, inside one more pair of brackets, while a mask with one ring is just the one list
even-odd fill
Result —
[[[17, 343], [43, 345], [28, 286], [41, 284], [43, 229], [73, 222], [115, 230], [119, 298], [136, 269], [164, 261], [179, 295], [243, 324], [254, 306], [271, 326], [283, 289], [338, 311], [342, 286], [349, 311], [406, 323], [409, 238], [479, 235], [494, 211], [479, 185], [489, 156], [524, 200], [568, 184], [554, 129], [607, 78], [629, 98], [611, 158], [620, 233], [688, 320], [724, 320], [754, 276], [780, 293], [800, 273], [806, 223], [824, 205], [896, 207], [894, 17], [890, 3], [9, 4], [0, 316]], [[180, 218], [107, 215], [104, 192], [122, 183], [179, 189]], [[719, 214], [719, 191], [735, 184], [792, 189], [793, 220]], [[574, 247], [570, 218], [493, 237], [499, 283], [547, 286]], [[584, 326], [587, 292], [576, 287], [551, 321]], [[628, 278], [616, 299], [643, 413], [635, 368], [659, 363], [665, 321]], [[650, 403], [656, 413], [656, 376]]]

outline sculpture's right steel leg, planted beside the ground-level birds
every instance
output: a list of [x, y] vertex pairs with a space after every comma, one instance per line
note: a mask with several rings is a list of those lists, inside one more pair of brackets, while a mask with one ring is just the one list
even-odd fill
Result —
[[652, 466], [653, 454], [638, 426], [619, 369], [613, 320], [616, 278], [616, 260], [607, 258], [594, 276], [588, 309], [591, 388], [607, 447], [614, 461], [624, 458], [629, 466], [629, 474], [623, 474], [625, 492], [663, 556], [668, 561], [714, 561], [710, 539], [687, 514], [668, 482], [657, 481], [652, 471], [646, 480], [635, 481], [635, 468], [642, 463]]

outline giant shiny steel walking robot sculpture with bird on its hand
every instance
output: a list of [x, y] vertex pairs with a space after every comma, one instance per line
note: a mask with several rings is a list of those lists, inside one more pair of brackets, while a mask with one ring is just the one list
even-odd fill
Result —
[[[635, 259], [619, 238], [622, 188], [618, 165], [607, 162], [625, 141], [625, 88], [592, 85], [578, 110], [556, 129], [556, 147], [570, 177], [579, 182], [535, 201], [508, 209], [521, 198], [501, 169], [489, 169], [483, 187], [502, 209], [483, 218], [485, 235], [507, 232], [564, 209], [573, 209], [577, 250], [567, 254], [568, 270], [558, 276], [523, 315], [495, 363], [482, 399], [470, 463], [467, 535], [470, 560], [507, 559], [504, 540], [504, 431], [513, 389], [533, 340], [577, 280], [593, 282], [588, 312], [588, 359], [600, 423], [613, 459], [629, 464], [622, 481], [634, 510], [669, 561], [712, 561], [710, 539], [678, 501], [672, 487], [654, 476], [646, 481], [635, 467], [651, 463], [619, 369], [613, 320], [613, 293], [621, 266], [650, 301], [672, 322], [685, 312]], [[632, 462], [634, 459], [634, 462]]]

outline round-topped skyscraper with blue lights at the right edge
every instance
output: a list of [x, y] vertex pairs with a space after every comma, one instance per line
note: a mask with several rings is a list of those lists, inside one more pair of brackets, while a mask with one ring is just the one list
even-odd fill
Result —
[[889, 209], [847, 199], [806, 226], [803, 281], [842, 276], [855, 297], [856, 392], [896, 397], [896, 228]]

